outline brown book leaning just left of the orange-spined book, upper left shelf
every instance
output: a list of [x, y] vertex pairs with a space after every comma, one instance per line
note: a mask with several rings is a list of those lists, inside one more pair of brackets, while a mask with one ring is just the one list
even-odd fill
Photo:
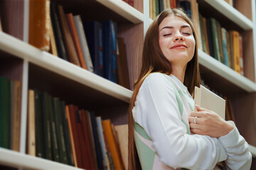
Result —
[[80, 62], [75, 51], [75, 45], [71, 37], [70, 28], [68, 27], [68, 21], [65, 18], [63, 6], [58, 6], [58, 17], [60, 18], [60, 30], [63, 35], [63, 42], [65, 51], [67, 52], [68, 61], [80, 67]]

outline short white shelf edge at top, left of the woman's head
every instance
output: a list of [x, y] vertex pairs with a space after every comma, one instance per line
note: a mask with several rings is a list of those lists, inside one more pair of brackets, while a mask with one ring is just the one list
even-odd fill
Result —
[[100, 4], [107, 6], [112, 11], [118, 13], [120, 16], [127, 18], [127, 20], [132, 23], [143, 23], [144, 15], [143, 13], [137, 11], [137, 9], [133, 8], [126, 2], [122, 0], [96, 0]]

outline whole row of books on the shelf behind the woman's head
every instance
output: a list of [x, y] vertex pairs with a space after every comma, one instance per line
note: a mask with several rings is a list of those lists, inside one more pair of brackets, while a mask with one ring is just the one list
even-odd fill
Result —
[[[151, 18], [155, 18], [158, 14], [154, 11], [160, 12], [165, 8], [175, 8], [176, 6], [183, 8], [196, 26], [198, 49], [243, 75], [242, 36], [240, 33], [237, 30], [226, 30], [215, 18], [203, 17], [198, 11], [196, 0], [177, 0], [172, 4], [171, 2], [170, 0], [151, 0]], [[228, 3], [232, 4], [231, 1]], [[154, 6], [154, 4], [156, 5]], [[160, 8], [162, 4], [164, 4], [164, 8]]]

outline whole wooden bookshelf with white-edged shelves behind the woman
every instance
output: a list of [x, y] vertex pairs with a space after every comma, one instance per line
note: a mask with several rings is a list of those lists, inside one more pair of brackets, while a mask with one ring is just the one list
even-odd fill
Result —
[[[24, 0], [25, 1], [25, 0]], [[125, 89], [112, 81], [71, 64], [58, 57], [28, 45], [28, 10], [23, 13], [23, 40], [0, 32], [0, 75], [22, 82], [21, 151], [0, 148], [0, 164], [18, 169], [78, 169], [57, 162], [26, 155], [26, 119], [28, 89], [36, 88], [75, 103], [81, 108], [95, 110], [96, 115], [110, 118], [114, 125], [127, 124], [127, 110], [132, 96], [132, 84], [142, 67], [144, 34], [152, 22], [149, 18], [149, 0], [134, 0], [134, 7], [122, 0], [53, 0], [63, 6], [65, 13], [80, 14], [84, 21], [112, 19], [117, 23], [117, 36], [124, 38], [131, 86]], [[232, 102], [238, 129], [250, 144], [256, 157], [256, 13], [255, 2], [234, 0], [234, 7], [224, 0], [197, 0], [199, 10], [204, 8], [218, 18], [226, 28], [242, 33], [244, 69], [242, 76], [198, 50], [202, 78], [213, 89], [226, 94]], [[25, 1], [28, 8], [28, 1]], [[250, 10], [251, 5], [254, 7]], [[203, 9], [202, 9], [203, 10]], [[256, 164], [255, 160], [252, 164]]]

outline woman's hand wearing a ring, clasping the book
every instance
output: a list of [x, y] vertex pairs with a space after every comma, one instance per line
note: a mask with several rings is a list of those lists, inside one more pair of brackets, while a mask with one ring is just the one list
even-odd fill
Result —
[[199, 106], [196, 106], [196, 110], [188, 116], [189, 126], [194, 134], [222, 137], [233, 130], [233, 125], [220, 118], [217, 113]]

